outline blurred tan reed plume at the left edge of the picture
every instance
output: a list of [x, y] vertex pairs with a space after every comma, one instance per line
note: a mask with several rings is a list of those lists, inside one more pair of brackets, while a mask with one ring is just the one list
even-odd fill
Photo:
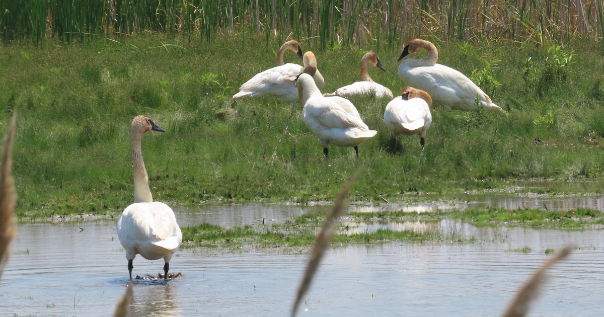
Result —
[[17, 225], [13, 213], [17, 194], [14, 191], [13, 176], [10, 175], [13, 164], [11, 152], [13, 149], [14, 126], [16, 122], [16, 114], [13, 114], [6, 136], [4, 137], [4, 146], [2, 146], [2, 167], [0, 170], [0, 274], [10, 254], [8, 245], [17, 235]]

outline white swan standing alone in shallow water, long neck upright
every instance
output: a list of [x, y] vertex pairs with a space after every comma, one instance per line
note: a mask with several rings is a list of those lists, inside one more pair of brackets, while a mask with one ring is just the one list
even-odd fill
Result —
[[134, 176], [134, 203], [126, 207], [117, 223], [117, 236], [126, 250], [128, 272], [132, 280], [132, 261], [137, 254], [147, 260], [164, 259], [164, 280], [168, 277], [169, 262], [182, 242], [182, 232], [176, 223], [172, 208], [162, 202], [153, 202], [149, 177], [143, 161], [141, 138], [149, 131], [164, 132], [143, 115], [132, 120], [130, 146]]

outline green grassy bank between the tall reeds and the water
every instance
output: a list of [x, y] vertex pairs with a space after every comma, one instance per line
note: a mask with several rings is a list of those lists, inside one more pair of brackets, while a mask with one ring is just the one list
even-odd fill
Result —
[[[378, 130], [356, 159], [354, 150], [338, 147], [324, 158], [301, 120], [299, 101], [230, 98], [256, 72], [274, 66], [280, 43], [266, 48], [263, 40], [188, 43], [149, 33], [86, 44], [0, 46], [2, 126], [11, 112], [19, 113], [19, 216], [104, 214], [132, 202], [129, 125], [137, 114], [166, 130], [144, 136], [143, 155], [155, 200], [172, 203], [332, 200], [358, 169], [353, 200], [482, 190], [509, 179], [602, 176], [602, 43], [577, 39], [552, 52], [506, 41], [434, 40], [440, 63], [467, 75], [475, 71], [475, 80], [492, 84], [493, 101], [506, 111], [435, 106], [421, 152], [414, 136], [391, 144], [382, 121], [387, 100], [356, 98], [365, 123]], [[302, 45], [315, 51], [325, 91], [359, 80], [364, 51]], [[400, 49], [367, 49], [387, 69], [370, 69], [371, 77], [394, 92], [402, 89]], [[556, 54], [572, 56], [573, 63], [552, 62]], [[299, 60], [291, 54], [286, 62]]]

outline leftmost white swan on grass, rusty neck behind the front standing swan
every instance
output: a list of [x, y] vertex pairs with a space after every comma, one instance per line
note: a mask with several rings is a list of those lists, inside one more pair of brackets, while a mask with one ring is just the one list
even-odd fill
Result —
[[295, 100], [298, 98], [296, 77], [303, 72], [310, 74], [316, 85], [323, 88], [325, 80], [316, 68], [315, 54], [310, 51], [304, 53], [303, 63], [304, 66], [287, 63], [260, 72], [241, 85], [239, 92], [233, 95], [233, 98], [271, 95], [281, 100]]

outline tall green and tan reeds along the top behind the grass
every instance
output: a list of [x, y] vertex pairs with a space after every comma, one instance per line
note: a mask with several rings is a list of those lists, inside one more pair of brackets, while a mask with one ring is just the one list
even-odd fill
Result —
[[7, 42], [49, 37], [65, 42], [144, 31], [181, 33], [189, 40], [217, 34], [293, 36], [321, 48], [398, 46], [426, 34], [445, 41], [566, 41], [602, 37], [600, 0], [7, 0], [0, 36]]

